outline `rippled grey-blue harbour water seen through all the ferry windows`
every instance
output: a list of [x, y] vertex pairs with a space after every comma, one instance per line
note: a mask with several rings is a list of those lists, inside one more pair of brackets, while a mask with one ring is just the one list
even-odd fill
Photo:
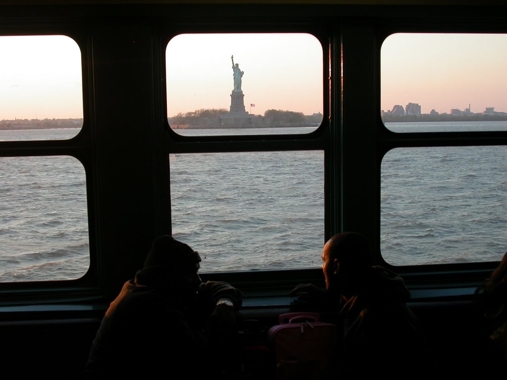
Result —
[[[76, 130], [0, 131], [0, 140], [47, 133], [68, 138]], [[504, 146], [389, 151], [380, 189], [386, 261], [498, 260], [507, 250], [506, 153]], [[322, 151], [177, 154], [170, 167], [173, 234], [201, 253], [202, 271], [320, 265]], [[0, 281], [75, 279], [87, 271], [86, 184], [78, 160], [1, 158], [0, 194]]]

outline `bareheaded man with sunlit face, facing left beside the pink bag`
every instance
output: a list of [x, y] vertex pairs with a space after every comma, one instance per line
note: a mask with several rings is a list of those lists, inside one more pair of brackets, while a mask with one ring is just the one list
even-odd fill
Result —
[[390, 270], [371, 266], [368, 241], [357, 233], [333, 236], [322, 253], [326, 291], [298, 285], [291, 295], [339, 302], [343, 328], [340, 379], [427, 378], [434, 363], [419, 321], [407, 306], [410, 292]]

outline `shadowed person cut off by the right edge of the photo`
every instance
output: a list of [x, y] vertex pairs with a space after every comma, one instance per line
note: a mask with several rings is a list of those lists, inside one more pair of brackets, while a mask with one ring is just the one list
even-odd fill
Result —
[[483, 314], [486, 359], [493, 366], [504, 368], [507, 364], [507, 252], [476, 294]]

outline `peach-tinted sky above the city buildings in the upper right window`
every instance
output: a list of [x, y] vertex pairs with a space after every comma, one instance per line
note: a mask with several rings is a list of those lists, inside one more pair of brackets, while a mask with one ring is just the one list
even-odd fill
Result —
[[[445, 59], [444, 59], [445, 57]], [[396, 33], [381, 48], [381, 109], [507, 112], [507, 34]]]

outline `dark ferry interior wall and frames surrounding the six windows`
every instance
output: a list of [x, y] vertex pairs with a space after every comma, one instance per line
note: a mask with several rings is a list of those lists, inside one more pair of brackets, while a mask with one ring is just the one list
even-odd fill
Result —
[[[381, 119], [380, 61], [382, 42], [393, 33], [506, 33], [504, 2], [124, 3], [21, 0], [0, 4], [1, 35], [65, 35], [81, 51], [79, 133], [68, 139], [2, 139], [0, 156], [77, 159], [86, 173], [86, 197], [79, 202], [86, 203], [89, 245], [89, 268], [78, 278], [0, 282], [4, 376], [81, 378], [108, 305], [142, 267], [153, 239], [173, 232], [170, 193], [176, 174], [171, 172], [169, 155], [298, 150], [323, 152], [323, 231], [311, 258], [317, 264], [298, 269], [204, 271], [201, 278], [227, 281], [241, 289], [244, 302], [239, 313], [244, 321], [256, 321], [262, 335], [277, 324], [281, 313], [300, 310], [288, 295], [296, 285], [313, 283], [325, 288], [320, 268], [325, 241], [339, 232], [360, 232], [372, 242], [374, 263], [402, 276], [411, 291], [409, 305], [427, 334], [438, 366], [436, 377], [480, 378], [485, 367], [496, 364], [481, 356], [485, 347], [481, 346], [482, 316], [476, 310], [475, 290], [497, 267], [501, 255], [482, 262], [386, 262], [380, 243], [381, 163], [386, 152], [396, 147], [507, 145], [507, 130], [390, 131]], [[165, 70], [165, 49], [173, 36], [185, 33], [313, 35], [322, 46], [322, 122], [304, 134], [177, 133], [168, 122], [165, 80], [170, 73]], [[3, 55], [2, 60], [11, 58]], [[268, 57], [274, 71], [284, 69], [278, 66], [279, 58]], [[39, 57], [32, 59], [42, 65]], [[173, 59], [185, 63], [187, 57]], [[234, 59], [246, 64], [240, 57]], [[244, 70], [245, 87], [249, 72]], [[431, 75], [431, 68], [411, 75]], [[9, 72], [2, 77], [8, 78]], [[228, 78], [232, 84], [232, 73]], [[410, 82], [410, 77], [405, 81]], [[0, 80], [0, 86], [3, 82], [9, 81]], [[4, 168], [0, 165], [0, 170]], [[29, 207], [30, 199], [25, 202]], [[0, 205], [4, 209], [4, 201]], [[4, 233], [2, 240], [8, 236]], [[9, 254], [4, 252], [5, 242], [0, 243], [0, 255]], [[191, 238], [185, 242], [194, 245]], [[439, 249], [448, 248], [442, 244]], [[199, 251], [205, 255], [205, 247]], [[332, 317], [323, 310], [314, 311], [322, 312], [323, 320]], [[248, 326], [239, 329], [238, 333], [245, 333]], [[418, 368], [413, 370], [416, 373]]]

